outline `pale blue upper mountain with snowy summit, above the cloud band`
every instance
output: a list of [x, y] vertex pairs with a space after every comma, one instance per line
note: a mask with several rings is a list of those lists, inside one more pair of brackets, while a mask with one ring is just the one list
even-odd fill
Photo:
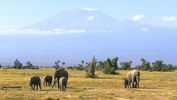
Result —
[[100, 10], [82, 8], [63, 11], [44, 21], [28, 26], [39, 30], [84, 30], [84, 32], [120, 32], [122, 30], [146, 27], [133, 21], [121, 21]]

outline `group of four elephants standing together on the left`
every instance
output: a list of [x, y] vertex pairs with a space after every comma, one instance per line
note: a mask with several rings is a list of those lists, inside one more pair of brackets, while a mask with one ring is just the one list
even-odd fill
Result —
[[[52, 76], [46, 75], [44, 77], [44, 86], [52, 86], [52, 88], [55, 86], [56, 83], [58, 83], [58, 88], [60, 88], [60, 91], [65, 91], [67, 88], [67, 81], [68, 81], [68, 72], [64, 68], [60, 68], [55, 71], [54, 74], [54, 81], [52, 85]], [[39, 76], [33, 76], [30, 78], [29, 85], [33, 90], [38, 90], [38, 87], [41, 90], [41, 79]]]

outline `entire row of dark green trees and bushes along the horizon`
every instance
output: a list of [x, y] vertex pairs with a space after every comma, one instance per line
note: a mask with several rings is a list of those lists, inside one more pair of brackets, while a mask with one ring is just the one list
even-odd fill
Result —
[[[92, 63], [94, 60], [94, 64]], [[88, 70], [92, 66], [94, 70], [100, 70], [107, 74], [116, 74], [116, 70], [130, 70], [130, 69], [139, 69], [143, 71], [163, 71], [163, 72], [171, 72], [177, 69], [177, 66], [172, 64], [164, 64], [162, 60], [156, 60], [155, 62], [148, 62], [145, 59], [141, 59], [141, 64], [132, 67], [132, 61], [127, 62], [120, 62], [120, 66], [118, 66], [118, 57], [115, 58], [107, 58], [105, 61], [97, 61], [95, 57], [93, 57], [91, 62], [85, 62], [84, 60], [81, 61], [80, 64], [76, 66], [67, 66], [68, 69], [75, 69], [75, 70]], [[61, 62], [60, 60], [55, 61], [53, 68], [58, 69], [59, 67], [63, 67], [65, 62]], [[0, 68], [2, 65], [0, 65]], [[22, 65], [22, 63], [16, 59], [14, 61], [13, 66], [8, 66], [8, 68], [15, 68], [15, 69], [39, 69], [39, 66], [34, 66], [30, 61], [26, 62], [26, 65]]]

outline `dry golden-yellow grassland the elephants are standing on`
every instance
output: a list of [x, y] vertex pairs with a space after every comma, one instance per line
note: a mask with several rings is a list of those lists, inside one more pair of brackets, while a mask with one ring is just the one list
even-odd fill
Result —
[[[15, 70], [0, 69], [0, 100], [177, 100], [177, 72], [141, 72], [140, 88], [125, 89], [123, 79], [128, 71], [120, 75], [105, 75], [97, 72], [97, 79], [85, 78], [84, 71], [68, 70], [66, 92], [42, 86], [41, 91], [32, 91], [29, 78], [46, 74], [54, 69]], [[21, 88], [2, 88], [21, 86]]]

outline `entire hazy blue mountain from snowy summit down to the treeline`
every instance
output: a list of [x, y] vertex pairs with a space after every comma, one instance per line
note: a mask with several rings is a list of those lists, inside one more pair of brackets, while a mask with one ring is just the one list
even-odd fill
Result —
[[176, 28], [118, 20], [96, 9], [63, 11], [22, 30], [34, 34], [22, 31], [0, 37], [0, 64], [19, 58], [38, 65], [52, 65], [58, 59], [74, 65], [93, 55], [99, 60], [118, 56], [120, 62], [134, 64], [142, 57], [177, 64]]

